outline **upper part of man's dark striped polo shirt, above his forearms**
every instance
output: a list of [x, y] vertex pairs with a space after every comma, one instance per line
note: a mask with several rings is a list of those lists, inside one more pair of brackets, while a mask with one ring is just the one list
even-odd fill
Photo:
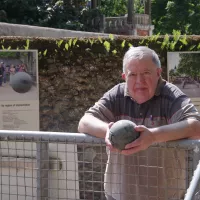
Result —
[[126, 84], [120, 83], [106, 92], [86, 113], [105, 121], [129, 119], [137, 125], [157, 127], [188, 118], [199, 119], [194, 105], [178, 87], [160, 79], [155, 95], [138, 104], [128, 94]]

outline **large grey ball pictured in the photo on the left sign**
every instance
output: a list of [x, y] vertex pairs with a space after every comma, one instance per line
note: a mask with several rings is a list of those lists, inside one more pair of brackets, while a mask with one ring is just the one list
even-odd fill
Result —
[[15, 92], [26, 93], [32, 87], [33, 81], [29, 74], [26, 72], [17, 72], [10, 82], [11, 87]]

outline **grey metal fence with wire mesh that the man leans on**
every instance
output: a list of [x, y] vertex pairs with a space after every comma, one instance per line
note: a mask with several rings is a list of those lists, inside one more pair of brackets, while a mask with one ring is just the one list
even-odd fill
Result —
[[[199, 141], [182, 140], [126, 157], [123, 173], [133, 181], [123, 183], [130, 195], [122, 199], [184, 199], [199, 150]], [[79, 133], [0, 131], [0, 154], [0, 200], [106, 199], [107, 153], [101, 139]]]

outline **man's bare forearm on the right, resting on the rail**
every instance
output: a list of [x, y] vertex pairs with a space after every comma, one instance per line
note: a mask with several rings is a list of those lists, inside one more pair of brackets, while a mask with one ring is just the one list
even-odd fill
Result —
[[170, 125], [152, 128], [155, 142], [167, 142], [184, 138], [200, 138], [200, 121], [188, 119]]

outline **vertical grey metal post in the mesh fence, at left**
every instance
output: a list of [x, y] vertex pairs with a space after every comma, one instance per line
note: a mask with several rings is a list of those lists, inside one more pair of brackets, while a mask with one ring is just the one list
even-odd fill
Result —
[[48, 199], [49, 144], [37, 143], [37, 200]]

